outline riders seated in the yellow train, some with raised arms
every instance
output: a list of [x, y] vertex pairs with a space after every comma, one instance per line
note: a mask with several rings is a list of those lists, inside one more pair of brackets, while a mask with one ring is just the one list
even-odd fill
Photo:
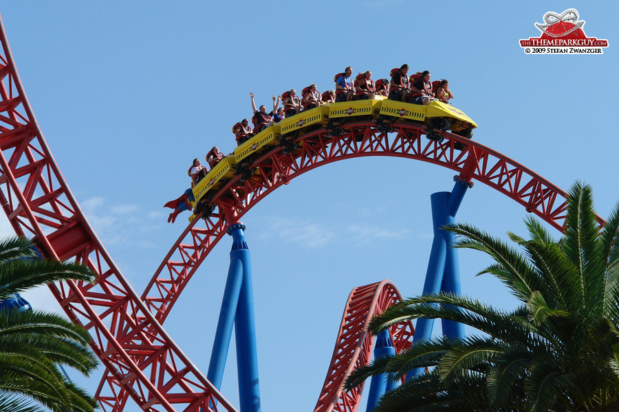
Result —
[[[250, 93], [252, 111], [254, 112], [252, 116], [253, 128], [249, 125], [248, 119], [243, 119], [232, 126], [232, 133], [235, 134], [237, 145], [240, 146], [250, 137], [260, 133], [269, 126], [273, 126], [274, 123], [281, 122], [286, 117], [294, 116], [327, 103], [372, 100], [376, 95], [384, 96], [384, 98], [391, 100], [422, 104], [424, 106], [427, 106], [433, 100], [448, 103], [449, 100], [453, 99], [453, 93], [449, 90], [449, 82], [447, 80], [431, 82], [431, 75], [427, 70], [409, 76], [409, 65], [402, 65], [399, 68], [392, 69], [389, 73], [391, 80], [385, 78], [375, 82], [372, 80], [372, 72], [369, 70], [359, 73], [356, 78], [352, 78], [352, 73], [352, 67], [347, 67], [342, 73], [336, 74], [334, 76], [335, 90], [328, 90], [325, 93], [320, 93], [316, 89], [316, 84], [310, 84], [310, 86], [305, 87], [301, 91], [301, 96], [296, 93], [295, 89], [286, 91], [281, 96], [273, 96], [273, 108], [269, 113], [267, 113], [266, 106], [264, 105], [256, 108], [254, 93]], [[280, 102], [283, 107], [279, 107]], [[210, 166], [210, 170], [213, 170], [215, 165], [224, 157], [226, 155], [220, 152], [217, 146], [214, 146], [206, 155], [206, 161]], [[194, 159], [191, 168], [187, 171], [187, 174], [191, 177], [192, 187], [204, 178], [207, 173], [208, 168], [203, 166], [199, 159]], [[174, 211], [168, 221], [173, 222], [177, 213], [177, 211]]]

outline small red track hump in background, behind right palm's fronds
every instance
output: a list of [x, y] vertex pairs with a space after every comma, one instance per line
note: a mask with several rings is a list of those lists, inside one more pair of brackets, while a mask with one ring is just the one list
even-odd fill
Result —
[[[374, 337], [366, 332], [369, 321], [401, 299], [398, 289], [387, 280], [353, 289], [346, 302], [327, 378], [314, 412], [357, 410], [363, 385], [350, 392], [343, 391], [342, 385], [351, 371], [368, 365], [371, 360]], [[410, 347], [413, 333], [411, 321], [389, 329], [395, 353]]]

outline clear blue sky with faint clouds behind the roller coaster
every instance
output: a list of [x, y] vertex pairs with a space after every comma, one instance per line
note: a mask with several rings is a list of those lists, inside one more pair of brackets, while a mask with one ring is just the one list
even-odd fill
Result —
[[[447, 78], [474, 139], [567, 190], [594, 187], [607, 216], [616, 179], [617, 3], [369, 0], [14, 1], [0, 13], [36, 119], [89, 222], [142, 293], [186, 225], [162, 205], [188, 187], [186, 170], [257, 104], [316, 83], [333, 89], [352, 66], [375, 79], [408, 63]], [[576, 8], [601, 56], [534, 56], [548, 11]], [[243, 218], [252, 251], [263, 410], [314, 406], [347, 295], [391, 279], [422, 290], [432, 242], [430, 194], [453, 172], [404, 159], [352, 159], [294, 179]], [[524, 234], [525, 210], [478, 183], [458, 219], [496, 236]], [[3, 223], [0, 233], [10, 234]], [[206, 374], [230, 240], [208, 256], [164, 327]], [[488, 260], [461, 251], [464, 293], [510, 308]], [[46, 290], [33, 306], [55, 308]], [[237, 402], [230, 351], [222, 392]], [[76, 377], [77, 378], [77, 377]], [[94, 390], [99, 376], [79, 380]], [[133, 411], [129, 408], [128, 410]]]

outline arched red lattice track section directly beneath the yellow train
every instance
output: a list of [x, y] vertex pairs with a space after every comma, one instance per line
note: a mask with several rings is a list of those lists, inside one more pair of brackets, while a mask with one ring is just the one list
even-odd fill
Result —
[[[565, 219], [565, 193], [499, 152], [475, 141], [451, 133], [442, 133], [442, 143], [426, 139], [421, 126], [411, 123], [393, 124], [393, 132], [380, 132], [373, 122], [346, 124], [343, 135], [332, 137], [325, 129], [314, 130], [296, 139], [302, 142], [294, 154], [283, 154], [274, 148], [252, 167], [257, 172], [241, 182], [232, 179], [213, 197], [219, 212], [206, 219], [195, 219], [184, 230], [158, 268], [142, 299], [155, 319], [163, 323], [187, 282], [215, 244], [224, 237], [226, 229], [247, 213], [262, 198], [294, 177], [321, 165], [343, 159], [365, 156], [391, 156], [416, 159], [442, 165], [459, 173], [459, 179], [485, 183], [517, 201], [556, 229], [561, 230]], [[465, 144], [455, 150], [455, 143]], [[128, 330], [127, 333], [130, 331]], [[110, 399], [109, 387], [116, 389], [116, 378], [106, 373], [102, 378], [100, 399]], [[105, 395], [103, 394], [105, 393]], [[113, 411], [120, 411], [123, 399], [116, 399]], [[125, 395], [126, 396], [126, 395]]]

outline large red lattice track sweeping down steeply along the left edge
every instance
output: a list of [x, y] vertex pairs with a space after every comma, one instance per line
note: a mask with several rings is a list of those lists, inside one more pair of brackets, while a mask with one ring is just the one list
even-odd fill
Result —
[[36, 124], [0, 26], [0, 203], [17, 235], [32, 238], [50, 258], [83, 262], [98, 273], [95, 285], [50, 288], [67, 315], [89, 330], [113, 376], [102, 407], [126, 400], [124, 393], [148, 411], [208, 411], [215, 403], [235, 411], [173, 343], [89, 226]]

